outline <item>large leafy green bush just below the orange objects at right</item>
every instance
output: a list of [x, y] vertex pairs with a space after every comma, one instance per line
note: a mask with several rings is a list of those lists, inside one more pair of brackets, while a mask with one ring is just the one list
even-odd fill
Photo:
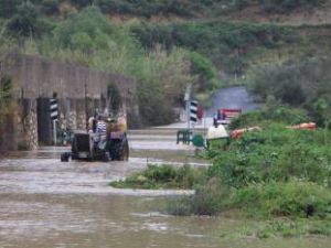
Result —
[[237, 188], [291, 179], [329, 186], [331, 150], [320, 138], [323, 134], [323, 130], [289, 130], [284, 126], [247, 132], [232, 142], [226, 152], [214, 157], [209, 174]]

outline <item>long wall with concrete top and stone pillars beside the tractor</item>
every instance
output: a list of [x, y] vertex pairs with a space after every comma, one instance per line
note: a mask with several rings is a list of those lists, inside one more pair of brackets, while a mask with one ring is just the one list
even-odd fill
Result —
[[106, 108], [111, 111], [109, 85], [121, 96], [119, 111], [129, 125], [138, 123], [136, 83], [131, 78], [15, 53], [1, 61], [0, 76], [3, 75], [12, 82], [17, 107], [13, 119], [1, 117], [6, 118], [3, 126], [10, 127], [10, 131], [2, 131], [0, 150], [31, 150], [39, 144], [52, 144], [50, 99], [55, 95], [60, 114], [57, 129], [86, 129], [87, 118], [95, 111]]

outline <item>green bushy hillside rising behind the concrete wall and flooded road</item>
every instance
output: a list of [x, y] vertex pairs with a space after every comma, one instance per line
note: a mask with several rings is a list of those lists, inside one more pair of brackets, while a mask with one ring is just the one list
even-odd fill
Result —
[[[160, 125], [173, 120], [166, 103], [181, 106], [188, 83], [205, 105], [231, 84], [285, 103], [284, 91], [299, 90], [302, 107], [317, 100], [330, 78], [317, 67], [329, 63], [329, 10], [330, 0], [0, 0], [1, 48], [131, 76], [147, 122]], [[286, 78], [296, 86], [286, 90], [260, 83], [305, 62], [305, 87], [299, 76]], [[274, 78], [264, 74], [271, 71]], [[150, 117], [154, 106], [162, 118]]]

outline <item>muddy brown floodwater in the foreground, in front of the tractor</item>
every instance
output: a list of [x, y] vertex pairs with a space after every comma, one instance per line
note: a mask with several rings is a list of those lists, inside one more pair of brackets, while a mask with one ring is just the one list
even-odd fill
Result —
[[164, 195], [191, 192], [108, 186], [110, 181], [143, 169], [145, 158], [61, 163], [63, 150], [45, 148], [0, 160], [1, 248], [331, 247], [330, 239], [318, 237], [220, 238], [221, 233], [245, 226], [245, 220], [158, 212], [156, 203]]

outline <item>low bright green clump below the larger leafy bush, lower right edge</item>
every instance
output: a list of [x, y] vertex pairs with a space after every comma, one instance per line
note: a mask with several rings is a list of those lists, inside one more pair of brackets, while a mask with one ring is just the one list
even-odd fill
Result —
[[233, 196], [233, 204], [254, 216], [323, 218], [331, 214], [331, 192], [305, 181], [253, 184], [238, 190]]

